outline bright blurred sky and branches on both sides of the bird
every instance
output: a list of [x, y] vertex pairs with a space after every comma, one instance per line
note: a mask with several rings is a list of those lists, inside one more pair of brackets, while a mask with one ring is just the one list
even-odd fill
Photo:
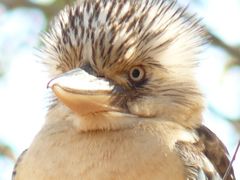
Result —
[[[0, 180], [44, 123], [46, 84], [39, 36], [72, 0], [0, 0]], [[240, 138], [240, 0], [179, 0], [202, 17], [211, 37], [197, 72], [206, 97], [204, 123], [232, 156]], [[240, 180], [240, 152], [234, 161]]]

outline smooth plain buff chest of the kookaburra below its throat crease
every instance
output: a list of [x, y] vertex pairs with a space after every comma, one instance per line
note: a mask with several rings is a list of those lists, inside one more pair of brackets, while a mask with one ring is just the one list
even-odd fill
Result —
[[22, 163], [21, 173], [35, 180], [184, 179], [180, 160], [165, 142], [134, 129], [40, 133]]

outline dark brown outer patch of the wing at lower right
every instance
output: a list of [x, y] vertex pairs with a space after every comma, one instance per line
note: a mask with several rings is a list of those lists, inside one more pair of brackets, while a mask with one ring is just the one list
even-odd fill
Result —
[[[221, 177], [224, 176], [230, 161], [228, 159], [228, 151], [221, 140], [206, 126], [200, 126], [197, 129], [200, 141], [203, 142], [205, 148], [203, 153], [212, 162]], [[226, 180], [235, 180], [233, 167]]]

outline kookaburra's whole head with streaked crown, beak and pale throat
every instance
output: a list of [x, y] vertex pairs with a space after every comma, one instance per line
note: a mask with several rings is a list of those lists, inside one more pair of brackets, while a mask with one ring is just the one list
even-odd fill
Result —
[[[198, 19], [168, 0], [83, 0], [66, 7], [43, 37], [49, 109], [81, 130], [146, 120], [200, 123], [194, 79], [204, 43]], [[62, 116], [61, 116], [62, 114]]]

